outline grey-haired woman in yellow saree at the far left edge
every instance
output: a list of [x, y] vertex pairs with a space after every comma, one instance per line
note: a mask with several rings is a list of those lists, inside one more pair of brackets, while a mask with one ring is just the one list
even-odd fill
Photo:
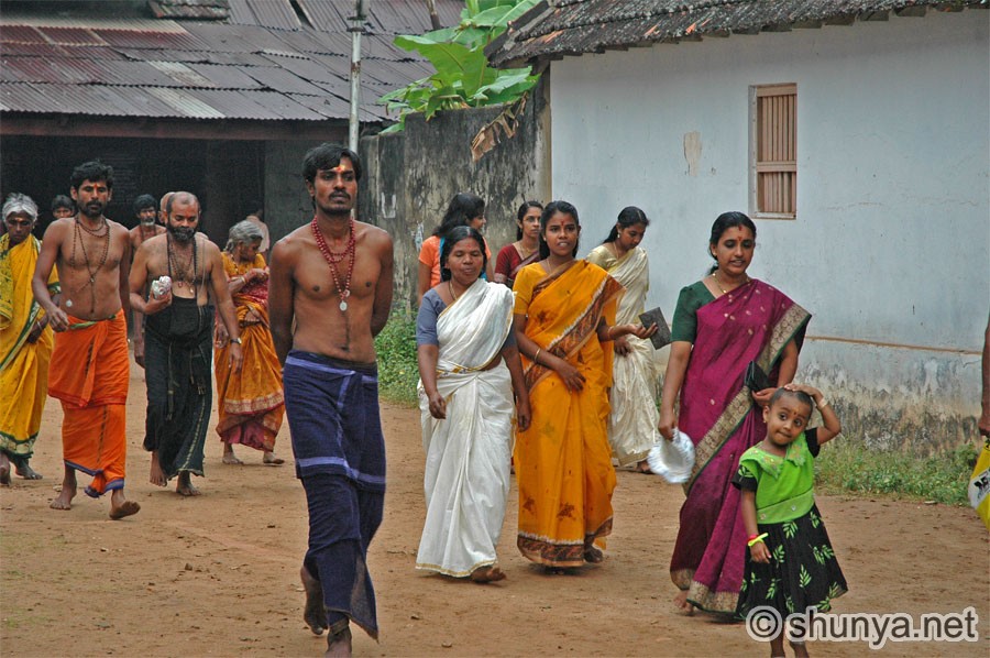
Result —
[[[42, 478], [28, 461], [48, 394], [53, 340], [48, 316], [31, 292], [41, 251], [41, 242], [31, 234], [37, 205], [26, 195], [12, 194], [2, 216], [7, 233], [0, 237], [0, 485], [9, 486], [11, 464], [25, 480]], [[54, 268], [48, 292], [61, 292]]]

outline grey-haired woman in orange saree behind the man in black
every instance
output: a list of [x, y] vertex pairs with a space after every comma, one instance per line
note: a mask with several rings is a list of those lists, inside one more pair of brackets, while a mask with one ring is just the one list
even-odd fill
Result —
[[217, 434], [223, 441], [223, 463], [230, 464], [241, 463], [233, 452], [234, 443], [263, 451], [266, 464], [285, 463], [274, 452], [285, 402], [282, 369], [268, 328], [268, 270], [258, 253], [261, 241], [257, 224], [244, 220], [230, 229], [230, 241], [222, 254], [244, 354], [241, 372], [234, 373], [227, 353], [230, 340], [223, 323], [217, 322], [213, 352], [220, 412]]

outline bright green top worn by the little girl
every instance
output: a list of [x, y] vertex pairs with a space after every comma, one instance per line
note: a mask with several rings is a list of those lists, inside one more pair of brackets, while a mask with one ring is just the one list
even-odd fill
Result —
[[783, 457], [756, 445], [739, 458], [733, 484], [756, 492], [757, 523], [777, 524], [807, 514], [815, 504], [818, 428], [804, 431]]

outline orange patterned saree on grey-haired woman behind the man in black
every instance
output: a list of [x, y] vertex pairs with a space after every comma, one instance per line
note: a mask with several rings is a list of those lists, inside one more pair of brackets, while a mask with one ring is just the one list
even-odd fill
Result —
[[[238, 265], [223, 253], [228, 279], [251, 268], [264, 268], [265, 259]], [[240, 374], [230, 370], [230, 342], [224, 340], [213, 351], [217, 373], [217, 397], [220, 421], [217, 434], [224, 443], [242, 443], [255, 450], [275, 449], [275, 437], [285, 416], [282, 369], [268, 328], [268, 284], [254, 281], [233, 295], [241, 329], [244, 362]]]

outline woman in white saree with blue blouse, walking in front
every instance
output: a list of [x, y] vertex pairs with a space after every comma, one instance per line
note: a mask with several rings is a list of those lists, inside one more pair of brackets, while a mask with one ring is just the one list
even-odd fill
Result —
[[530, 416], [510, 331], [513, 292], [479, 278], [486, 260], [481, 233], [450, 232], [442, 281], [424, 295], [416, 331], [427, 503], [416, 568], [475, 582], [505, 578], [495, 546], [509, 492], [513, 415], [522, 429]]

